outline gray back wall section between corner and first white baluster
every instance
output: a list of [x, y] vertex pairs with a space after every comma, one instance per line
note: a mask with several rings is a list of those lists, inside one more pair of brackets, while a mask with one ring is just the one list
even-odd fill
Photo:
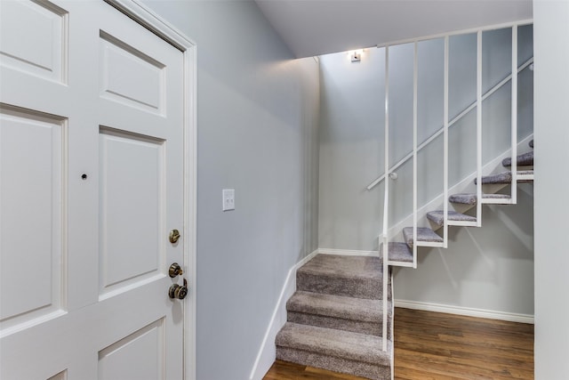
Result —
[[320, 57], [319, 246], [373, 247], [382, 213], [379, 192], [365, 186], [383, 168], [383, 51]]

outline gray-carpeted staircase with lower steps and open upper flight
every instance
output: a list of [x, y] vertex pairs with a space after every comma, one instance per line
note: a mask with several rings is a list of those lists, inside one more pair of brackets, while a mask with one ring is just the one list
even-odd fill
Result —
[[[529, 142], [533, 148], [533, 140]], [[510, 167], [511, 158], [502, 161]], [[533, 150], [517, 156], [518, 182], [533, 182]], [[476, 181], [475, 181], [476, 182]], [[499, 191], [512, 182], [511, 172], [482, 177], [483, 190]], [[490, 185], [490, 186], [485, 186]], [[498, 186], [497, 186], [498, 185]], [[509, 204], [509, 194], [483, 192], [483, 204]], [[477, 222], [469, 210], [477, 194], [449, 197], [460, 209], [448, 211], [449, 222]], [[432, 228], [417, 228], [417, 242], [442, 244], [437, 230], [444, 225], [444, 211], [431, 211]], [[476, 224], [474, 224], [476, 225]], [[403, 229], [403, 242], [389, 243], [389, 263], [413, 263], [413, 227]], [[373, 380], [393, 378], [393, 303], [391, 273], [388, 286], [387, 351], [383, 343], [379, 257], [317, 255], [297, 271], [297, 291], [286, 303], [287, 322], [276, 336], [276, 359]]]

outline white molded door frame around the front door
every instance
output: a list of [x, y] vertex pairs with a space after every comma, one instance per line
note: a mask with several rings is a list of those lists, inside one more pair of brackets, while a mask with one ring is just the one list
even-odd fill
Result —
[[196, 380], [196, 44], [139, 0], [104, 0], [136, 20], [183, 54], [184, 65], [184, 272], [189, 295], [184, 301], [184, 376]]

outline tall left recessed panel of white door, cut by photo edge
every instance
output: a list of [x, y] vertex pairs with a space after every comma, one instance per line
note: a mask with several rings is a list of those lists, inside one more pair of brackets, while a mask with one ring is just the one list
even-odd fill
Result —
[[[65, 262], [62, 221], [65, 123], [29, 109], [0, 107], [0, 322], [4, 328], [59, 310]], [[14, 165], [17, 163], [17, 165]], [[22, 297], [14, 286], [34, 279]]]

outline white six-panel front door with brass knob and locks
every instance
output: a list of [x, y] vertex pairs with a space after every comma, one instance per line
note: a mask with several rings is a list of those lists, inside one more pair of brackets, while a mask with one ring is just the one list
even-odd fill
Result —
[[102, 1], [0, 7], [0, 378], [181, 379], [182, 53]]

